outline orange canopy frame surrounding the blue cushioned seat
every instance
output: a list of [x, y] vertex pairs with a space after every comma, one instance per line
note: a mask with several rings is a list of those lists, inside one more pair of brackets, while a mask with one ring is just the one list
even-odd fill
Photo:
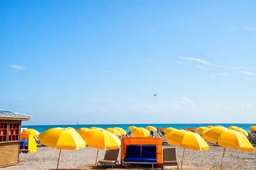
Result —
[[157, 168], [162, 167], [162, 139], [149, 137], [123, 137], [121, 140], [121, 164], [125, 158], [126, 146], [128, 145], [156, 145], [157, 146]]

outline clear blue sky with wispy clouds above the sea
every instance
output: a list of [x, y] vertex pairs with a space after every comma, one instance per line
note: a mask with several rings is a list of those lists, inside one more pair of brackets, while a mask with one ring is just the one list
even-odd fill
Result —
[[252, 123], [255, 6], [1, 1], [0, 109], [31, 125]]

